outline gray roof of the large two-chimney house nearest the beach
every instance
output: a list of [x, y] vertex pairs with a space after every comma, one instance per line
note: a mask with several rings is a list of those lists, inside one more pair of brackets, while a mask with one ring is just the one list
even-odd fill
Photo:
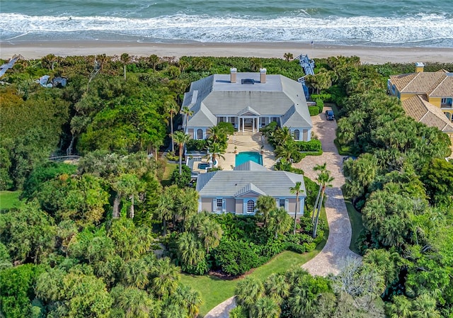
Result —
[[[188, 126], [212, 126], [210, 115], [200, 116], [195, 120], [196, 113], [206, 109], [214, 117], [236, 116], [245, 113], [281, 117], [293, 106], [294, 118], [291, 118], [292, 116], [285, 118], [284, 125], [290, 127], [312, 126], [300, 83], [282, 75], [268, 74], [266, 83], [261, 84], [259, 76], [259, 73], [236, 73], [236, 83], [231, 83], [229, 74], [214, 74], [194, 81], [190, 86], [190, 91], [185, 93], [183, 101], [183, 106], [188, 106], [194, 111], [194, 115], [189, 118]], [[241, 79], [256, 79], [256, 84], [241, 84]], [[194, 91], [197, 93], [195, 94]], [[202, 105], [205, 108], [202, 108]]]

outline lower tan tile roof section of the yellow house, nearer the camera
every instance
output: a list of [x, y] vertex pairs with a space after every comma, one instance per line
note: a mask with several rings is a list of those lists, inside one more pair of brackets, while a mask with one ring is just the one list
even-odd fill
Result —
[[415, 95], [401, 102], [406, 114], [429, 127], [437, 127], [442, 132], [453, 132], [453, 124], [440, 108], [432, 105], [422, 96]]

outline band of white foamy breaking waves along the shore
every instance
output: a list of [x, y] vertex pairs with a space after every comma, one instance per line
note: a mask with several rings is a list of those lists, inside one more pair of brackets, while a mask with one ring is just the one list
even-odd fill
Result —
[[[159, 18], [26, 16], [0, 13], [1, 40], [25, 33], [50, 35], [118, 33], [146, 40], [201, 42], [366, 41], [400, 45], [438, 39], [453, 43], [451, 15], [418, 13], [398, 18], [369, 16], [311, 18], [306, 14], [282, 18], [212, 17], [177, 14]], [[444, 43], [444, 45], [445, 45]], [[448, 45], [447, 45], [448, 46]]]

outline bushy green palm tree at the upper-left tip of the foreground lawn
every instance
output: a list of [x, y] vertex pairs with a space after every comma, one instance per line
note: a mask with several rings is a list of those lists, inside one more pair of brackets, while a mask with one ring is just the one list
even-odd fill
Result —
[[174, 266], [168, 257], [159, 259], [152, 267], [153, 291], [159, 297], [174, 293], [180, 280], [180, 268]]

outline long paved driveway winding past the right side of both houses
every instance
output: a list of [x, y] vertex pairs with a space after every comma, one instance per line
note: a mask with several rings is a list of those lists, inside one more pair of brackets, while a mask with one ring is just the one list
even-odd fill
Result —
[[[324, 111], [326, 109], [331, 108], [324, 107]], [[360, 256], [349, 249], [352, 229], [340, 188], [345, 183], [342, 172], [343, 156], [338, 154], [337, 148], [333, 144], [333, 140], [336, 138], [336, 120], [326, 120], [326, 113], [321, 113], [316, 117], [311, 117], [311, 121], [314, 133], [322, 142], [323, 154], [322, 156], [307, 156], [294, 166], [303, 169], [305, 176], [314, 180], [318, 176], [318, 172], [313, 170], [314, 166], [327, 162], [327, 169], [331, 171], [335, 180], [333, 187], [326, 189], [326, 215], [329, 227], [326, 246], [314, 259], [304, 263], [302, 267], [311, 275], [326, 276], [329, 273], [339, 273], [343, 259]], [[234, 307], [236, 307], [234, 297], [231, 297], [214, 307], [205, 318], [228, 318], [229, 311]]]

